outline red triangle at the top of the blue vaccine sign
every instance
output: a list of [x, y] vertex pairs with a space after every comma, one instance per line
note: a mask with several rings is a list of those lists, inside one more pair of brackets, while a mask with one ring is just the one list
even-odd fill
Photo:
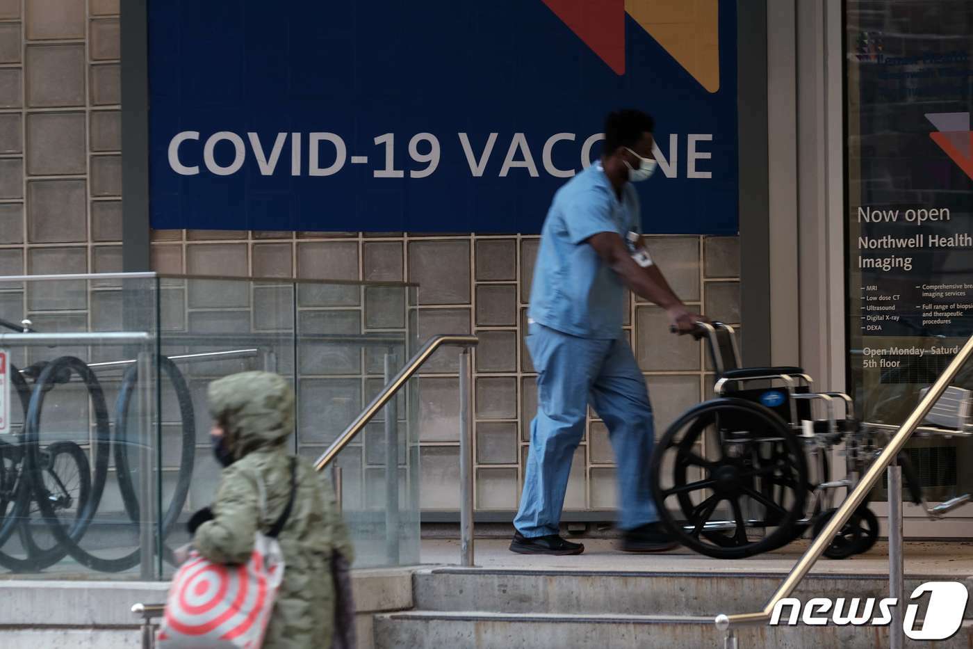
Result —
[[544, 4], [615, 74], [625, 74], [625, 0], [544, 0]]

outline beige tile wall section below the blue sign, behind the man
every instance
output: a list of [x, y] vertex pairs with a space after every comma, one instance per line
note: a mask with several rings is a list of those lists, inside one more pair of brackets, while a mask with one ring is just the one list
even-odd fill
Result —
[[[523, 460], [536, 410], [534, 369], [523, 347], [538, 239], [528, 236], [413, 236], [364, 233], [156, 231], [154, 270], [257, 277], [407, 281], [419, 285], [419, 338], [475, 332], [477, 507], [516, 509]], [[656, 236], [653, 259], [687, 303], [739, 324], [739, 240]], [[348, 305], [364, 321], [381, 318], [380, 299]], [[645, 373], [657, 436], [712, 384], [703, 347], [668, 333], [665, 313], [629, 300], [626, 331]], [[458, 491], [458, 362], [438, 353], [419, 378], [421, 497], [425, 509], [455, 509]], [[593, 418], [575, 456], [565, 507], [611, 509], [614, 458], [604, 425]]]

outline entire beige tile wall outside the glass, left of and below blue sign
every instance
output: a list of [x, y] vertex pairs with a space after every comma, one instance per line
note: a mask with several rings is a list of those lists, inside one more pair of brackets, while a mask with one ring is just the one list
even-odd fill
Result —
[[[121, 269], [118, 15], [119, 0], [0, 0], [0, 274]], [[737, 238], [654, 237], [650, 246], [685, 300], [739, 322]], [[473, 391], [477, 504], [512, 510], [536, 402], [523, 347], [536, 249], [536, 238], [521, 236], [157, 231], [152, 267], [418, 283], [420, 337], [481, 337]], [[18, 295], [0, 295], [0, 317], [45, 317], [29, 311]], [[329, 303], [340, 302], [341, 295], [329, 296]], [[88, 305], [77, 306], [76, 317], [97, 322]], [[378, 294], [346, 306], [362, 310], [369, 326], [388, 317]], [[671, 336], [665, 315], [639, 300], [629, 301], [626, 325], [660, 434], [704, 395], [703, 350]], [[442, 353], [419, 379], [427, 509], [458, 504], [450, 486], [458, 472], [456, 371], [455, 352]], [[613, 466], [607, 433], [593, 420], [576, 455], [566, 507], [613, 507]]]

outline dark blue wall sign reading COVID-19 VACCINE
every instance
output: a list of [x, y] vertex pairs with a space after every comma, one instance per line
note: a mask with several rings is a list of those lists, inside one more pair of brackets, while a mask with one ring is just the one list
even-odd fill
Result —
[[685, 4], [150, 0], [152, 227], [534, 234], [635, 107], [643, 230], [736, 234], [736, 3]]

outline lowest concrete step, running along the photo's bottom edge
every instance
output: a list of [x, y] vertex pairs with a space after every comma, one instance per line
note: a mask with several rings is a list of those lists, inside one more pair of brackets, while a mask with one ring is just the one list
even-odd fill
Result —
[[[739, 649], [874, 649], [888, 646], [887, 628], [768, 627], [739, 630]], [[968, 649], [965, 622], [949, 640], [906, 646]], [[551, 615], [412, 611], [377, 615], [375, 649], [721, 649], [710, 618], [648, 615]]]

